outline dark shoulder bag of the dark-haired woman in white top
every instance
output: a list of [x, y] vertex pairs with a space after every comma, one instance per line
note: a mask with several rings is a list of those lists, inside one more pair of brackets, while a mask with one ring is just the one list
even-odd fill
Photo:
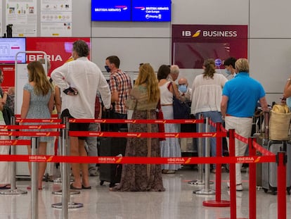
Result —
[[[173, 86], [172, 82], [169, 83], [169, 86]], [[173, 91], [174, 91], [174, 88], [173, 88]], [[174, 119], [190, 118], [190, 106], [188, 105], [188, 103], [177, 99], [175, 92], [173, 92], [173, 111], [174, 111]]]

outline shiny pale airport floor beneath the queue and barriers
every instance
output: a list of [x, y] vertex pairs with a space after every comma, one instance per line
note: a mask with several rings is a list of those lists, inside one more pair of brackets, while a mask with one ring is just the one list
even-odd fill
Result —
[[[221, 200], [230, 200], [229, 173], [222, 173]], [[222, 219], [231, 218], [230, 207], [205, 207], [202, 201], [215, 200], [215, 195], [198, 195], [193, 191], [204, 186], [188, 184], [198, 179], [198, 169], [184, 166], [175, 174], [163, 174], [165, 192], [110, 192], [109, 183], [100, 185], [99, 177], [90, 177], [91, 189], [82, 189], [80, 194], [71, 195], [71, 202], [84, 204], [82, 208], [69, 209], [70, 219]], [[215, 174], [210, 173], [210, 180]], [[17, 180], [18, 189], [27, 191], [30, 180]], [[52, 194], [61, 189], [61, 184], [44, 182], [39, 190], [39, 219], [62, 218], [61, 208], [51, 204], [61, 202], [61, 196]], [[215, 189], [215, 184], [210, 184]], [[249, 218], [248, 171], [243, 172], [243, 192], [237, 192], [237, 218]], [[4, 191], [4, 190], [3, 190]], [[31, 191], [21, 195], [0, 195], [0, 218], [31, 218]], [[287, 217], [291, 218], [291, 196], [287, 198]], [[277, 216], [277, 195], [257, 189], [257, 219], [274, 219]]]

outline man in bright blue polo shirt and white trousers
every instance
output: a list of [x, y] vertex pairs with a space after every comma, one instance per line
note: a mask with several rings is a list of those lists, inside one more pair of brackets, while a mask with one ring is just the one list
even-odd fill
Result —
[[[235, 133], [246, 138], [250, 137], [252, 132], [252, 116], [257, 101], [261, 104], [263, 111], [269, 110], [264, 88], [257, 80], [250, 77], [249, 70], [247, 59], [240, 58], [235, 62], [237, 75], [233, 80], [226, 82], [221, 100], [221, 114], [225, 119], [226, 130], [234, 129]], [[247, 144], [235, 139], [235, 156], [245, 156], [246, 149]], [[242, 163], [235, 164], [237, 191], [243, 190], [241, 167]]]

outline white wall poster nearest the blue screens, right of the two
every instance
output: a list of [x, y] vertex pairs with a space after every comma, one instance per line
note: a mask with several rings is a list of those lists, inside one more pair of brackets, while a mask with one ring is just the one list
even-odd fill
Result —
[[72, 0], [41, 0], [41, 37], [72, 37]]

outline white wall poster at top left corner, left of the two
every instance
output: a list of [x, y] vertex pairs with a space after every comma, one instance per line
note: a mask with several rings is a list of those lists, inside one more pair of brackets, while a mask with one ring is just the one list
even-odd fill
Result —
[[37, 36], [37, 0], [6, 0], [5, 10], [12, 37]]

